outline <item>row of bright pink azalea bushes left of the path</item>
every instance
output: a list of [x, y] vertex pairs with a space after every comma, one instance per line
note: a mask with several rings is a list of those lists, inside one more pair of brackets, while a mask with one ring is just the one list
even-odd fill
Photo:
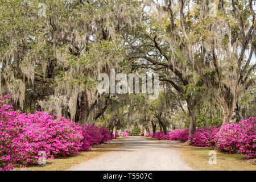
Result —
[[21, 113], [6, 105], [10, 96], [0, 97], [0, 170], [36, 164], [39, 152], [46, 159], [70, 156], [110, 140], [104, 127], [82, 126], [43, 111]]

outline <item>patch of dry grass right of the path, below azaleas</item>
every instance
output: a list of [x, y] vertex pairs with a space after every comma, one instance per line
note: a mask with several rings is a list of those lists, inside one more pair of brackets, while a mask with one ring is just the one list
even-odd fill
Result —
[[[182, 160], [194, 170], [204, 171], [255, 171], [256, 159], [247, 160], [247, 156], [229, 154], [214, 150], [212, 147], [178, 146]], [[216, 152], [216, 163], [209, 164], [210, 151]]]

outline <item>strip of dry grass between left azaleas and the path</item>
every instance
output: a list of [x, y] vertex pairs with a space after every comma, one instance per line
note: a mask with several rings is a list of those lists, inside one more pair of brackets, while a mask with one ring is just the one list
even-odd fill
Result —
[[[124, 138], [113, 139], [114, 141], [122, 141]], [[112, 140], [112, 141], [113, 141]], [[75, 156], [47, 159], [46, 165], [36, 165], [24, 168], [14, 168], [16, 171], [62, 171], [76, 164], [85, 162], [90, 159], [97, 158], [98, 156], [115, 150], [115, 148], [121, 147], [121, 143], [107, 143], [99, 146], [92, 147], [92, 150], [82, 151]]]

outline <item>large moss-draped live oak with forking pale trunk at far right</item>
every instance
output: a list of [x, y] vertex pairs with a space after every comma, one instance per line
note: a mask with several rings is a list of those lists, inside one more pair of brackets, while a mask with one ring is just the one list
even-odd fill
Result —
[[[223, 122], [236, 121], [236, 104], [255, 83], [255, 1], [164, 1], [170, 35], [180, 44], [210, 94]], [[172, 39], [173, 40], [173, 39]]]

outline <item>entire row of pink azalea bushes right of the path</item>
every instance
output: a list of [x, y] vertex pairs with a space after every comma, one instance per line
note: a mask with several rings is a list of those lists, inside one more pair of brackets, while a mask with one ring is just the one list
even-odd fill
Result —
[[188, 129], [163, 131], [155, 134], [158, 140], [188, 139], [194, 146], [216, 147], [218, 150], [234, 154], [247, 155], [248, 159], [256, 158], [256, 117], [242, 119], [239, 123], [223, 123], [222, 126], [201, 127], [188, 137]]

